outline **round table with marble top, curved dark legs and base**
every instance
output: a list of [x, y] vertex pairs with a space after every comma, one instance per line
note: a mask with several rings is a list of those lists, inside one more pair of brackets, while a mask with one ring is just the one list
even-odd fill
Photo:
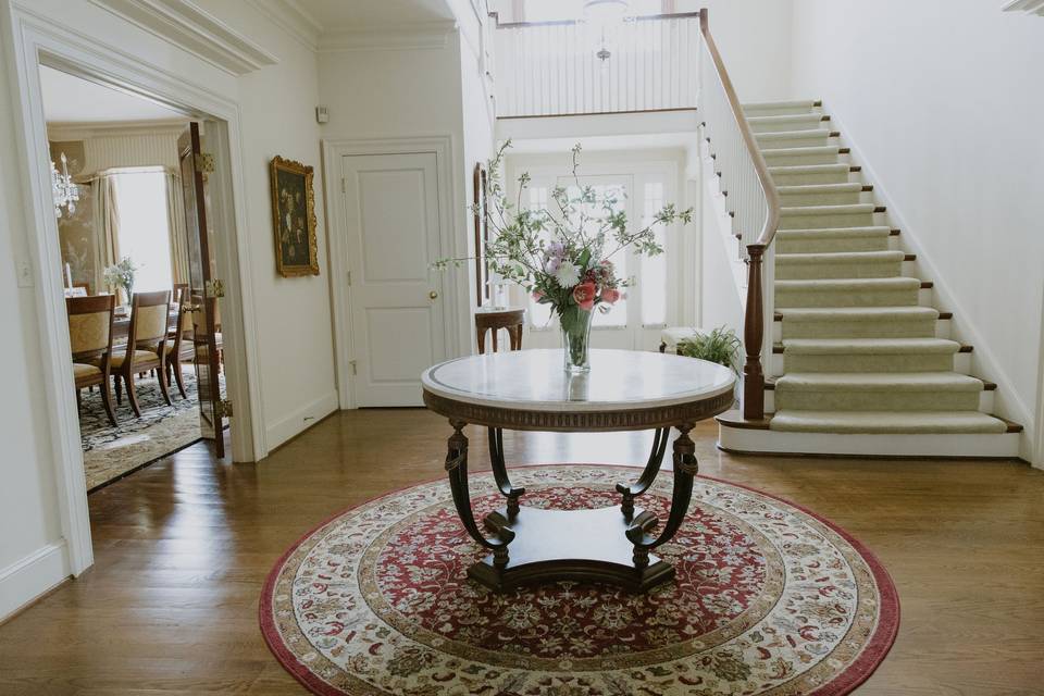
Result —
[[[591, 372], [569, 375], [561, 350], [523, 350], [470, 356], [430, 368], [421, 376], [424, 403], [453, 428], [446, 471], [453, 504], [472, 538], [492, 554], [468, 570], [496, 591], [518, 585], [577, 580], [611, 582], [645, 592], [674, 576], [650, 551], [669, 542], [684, 520], [697, 472], [688, 432], [697, 421], [732, 407], [732, 372], [679, 356], [630, 350], [592, 350]], [[505, 507], [478, 526], [468, 489], [468, 424], [489, 430], [489, 458]], [[671, 427], [674, 488], [671, 509], [659, 520], [635, 507], [659, 473]], [[504, 428], [517, 431], [655, 431], [652, 450], [634, 483], [617, 484], [619, 508], [540, 510], [520, 505], [524, 488], [511, 485], [504, 460]]]

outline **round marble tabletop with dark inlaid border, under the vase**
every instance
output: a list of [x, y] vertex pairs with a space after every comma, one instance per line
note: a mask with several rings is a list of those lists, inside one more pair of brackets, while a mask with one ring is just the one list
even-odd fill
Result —
[[526, 411], [598, 412], [688, 403], [731, 391], [732, 371], [638, 350], [591, 351], [591, 372], [566, 373], [561, 350], [468, 356], [428, 368], [424, 389], [457, 401]]

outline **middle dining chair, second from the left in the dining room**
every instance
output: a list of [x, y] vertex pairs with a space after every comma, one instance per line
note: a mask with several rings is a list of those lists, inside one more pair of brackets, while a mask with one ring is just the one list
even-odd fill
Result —
[[111, 372], [116, 386], [116, 403], [123, 403], [121, 382], [126, 382], [127, 400], [135, 415], [141, 417], [134, 381], [140, 373], [156, 371], [160, 393], [167, 406], [173, 406], [166, 388], [166, 333], [171, 312], [171, 291], [135, 293], [130, 298], [130, 325], [127, 346], [112, 356]]

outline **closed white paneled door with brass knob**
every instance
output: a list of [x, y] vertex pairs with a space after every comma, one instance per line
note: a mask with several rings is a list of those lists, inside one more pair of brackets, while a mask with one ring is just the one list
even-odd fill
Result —
[[356, 405], [419, 406], [446, 359], [434, 152], [343, 158]]

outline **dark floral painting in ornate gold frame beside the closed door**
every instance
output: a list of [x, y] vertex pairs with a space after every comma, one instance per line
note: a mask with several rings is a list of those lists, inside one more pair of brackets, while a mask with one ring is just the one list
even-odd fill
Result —
[[312, 167], [275, 157], [271, 177], [276, 271], [283, 277], [319, 275]]

